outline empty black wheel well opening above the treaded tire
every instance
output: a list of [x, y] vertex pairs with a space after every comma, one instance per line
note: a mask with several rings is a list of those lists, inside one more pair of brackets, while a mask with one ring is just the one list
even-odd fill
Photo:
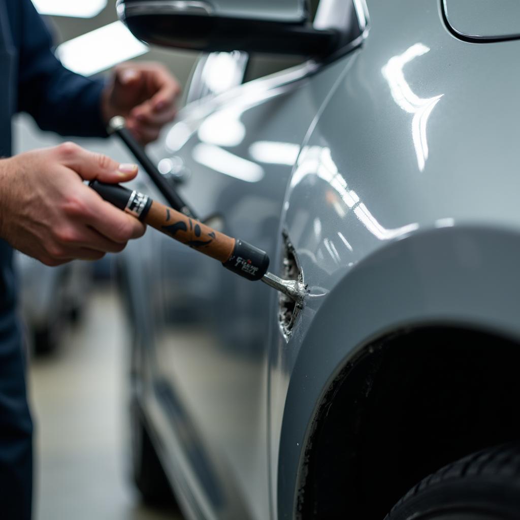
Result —
[[520, 438], [520, 345], [450, 327], [401, 331], [331, 385], [307, 445], [298, 512], [381, 520], [441, 466]]

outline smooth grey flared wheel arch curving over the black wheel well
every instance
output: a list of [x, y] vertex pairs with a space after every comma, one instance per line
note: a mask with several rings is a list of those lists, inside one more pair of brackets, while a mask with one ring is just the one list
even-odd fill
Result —
[[[514, 229], [435, 229], [388, 244], [337, 283], [313, 318], [290, 373], [279, 444], [278, 518], [308, 517], [316, 432], [331, 416], [344, 381], [355, 381], [354, 367], [370, 367], [388, 345], [397, 352], [398, 339], [411, 341], [425, 331], [492, 338], [502, 345], [492, 349], [497, 362], [497, 353], [505, 350], [509, 366], [520, 361], [517, 258], [520, 236]], [[450, 348], [447, 353], [454, 353]], [[446, 360], [438, 345], [416, 350]], [[416, 366], [417, 359], [406, 359]], [[357, 391], [370, 395], [370, 370], [356, 373], [363, 374]]]

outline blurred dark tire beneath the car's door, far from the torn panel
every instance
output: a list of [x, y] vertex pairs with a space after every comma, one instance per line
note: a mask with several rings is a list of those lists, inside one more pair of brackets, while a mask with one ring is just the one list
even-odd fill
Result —
[[131, 418], [133, 479], [143, 501], [151, 506], [178, 510], [172, 488], [138, 405], [131, 406]]

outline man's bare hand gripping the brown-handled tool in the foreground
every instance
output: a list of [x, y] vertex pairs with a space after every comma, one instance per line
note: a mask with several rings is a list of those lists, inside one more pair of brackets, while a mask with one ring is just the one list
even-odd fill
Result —
[[64, 143], [0, 161], [0, 237], [56, 266], [74, 258], [97, 260], [119, 252], [145, 226], [105, 202], [82, 182], [119, 183], [137, 166]]

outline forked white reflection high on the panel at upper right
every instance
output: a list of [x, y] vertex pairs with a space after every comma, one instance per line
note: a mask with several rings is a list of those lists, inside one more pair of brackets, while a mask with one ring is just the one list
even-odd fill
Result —
[[417, 154], [417, 164], [422, 172], [428, 159], [428, 141], [426, 139], [426, 123], [435, 105], [444, 94], [431, 98], [420, 98], [412, 92], [410, 85], [405, 80], [403, 68], [414, 58], [423, 56], [430, 48], [422, 43], [416, 43], [405, 50], [404, 53], [388, 60], [381, 69], [388, 82], [394, 101], [406, 112], [413, 114], [412, 140]]

